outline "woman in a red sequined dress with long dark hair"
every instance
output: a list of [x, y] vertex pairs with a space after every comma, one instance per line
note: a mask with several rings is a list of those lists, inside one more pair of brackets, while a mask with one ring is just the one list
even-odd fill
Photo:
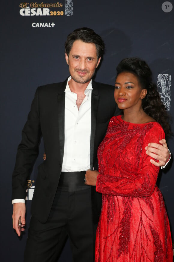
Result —
[[103, 200], [95, 261], [171, 262], [169, 220], [156, 186], [159, 167], [145, 150], [149, 141], [169, 135], [170, 127], [145, 61], [120, 62], [114, 97], [124, 114], [111, 118], [98, 148], [96, 191]]

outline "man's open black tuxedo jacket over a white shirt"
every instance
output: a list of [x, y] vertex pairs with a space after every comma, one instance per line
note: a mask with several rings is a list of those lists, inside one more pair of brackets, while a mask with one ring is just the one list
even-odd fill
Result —
[[[49, 217], [61, 173], [64, 154], [64, 108], [67, 80], [40, 86], [32, 101], [28, 120], [22, 130], [12, 179], [12, 199], [26, 197], [27, 179], [38, 156], [43, 136], [46, 160], [38, 167], [31, 213], [42, 223]], [[110, 118], [117, 115], [114, 87], [92, 81], [91, 94], [91, 170], [98, 170], [97, 149], [104, 138]], [[91, 189], [93, 221], [98, 222], [101, 194]]]

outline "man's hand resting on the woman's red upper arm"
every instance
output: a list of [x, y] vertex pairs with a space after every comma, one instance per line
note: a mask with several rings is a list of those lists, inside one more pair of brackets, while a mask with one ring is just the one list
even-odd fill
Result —
[[159, 162], [155, 162], [153, 159], [150, 160], [150, 162], [157, 167], [164, 166], [170, 158], [166, 140], [162, 139], [159, 141], [159, 143], [161, 145], [156, 143], [149, 143], [148, 146], [145, 147], [145, 149], [147, 150], [146, 154], [148, 154], [152, 158], [159, 160]]

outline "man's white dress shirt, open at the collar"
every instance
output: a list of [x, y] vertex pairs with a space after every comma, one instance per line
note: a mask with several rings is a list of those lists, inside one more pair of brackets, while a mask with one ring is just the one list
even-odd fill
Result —
[[[71, 76], [68, 78], [70, 81]], [[65, 89], [65, 126], [63, 172], [84, 171], [90, 169], [91, 138], [91, 90], [92, 81], [85, 89], [85, 98], [79, 107], [76, 105], [77, 94]]]

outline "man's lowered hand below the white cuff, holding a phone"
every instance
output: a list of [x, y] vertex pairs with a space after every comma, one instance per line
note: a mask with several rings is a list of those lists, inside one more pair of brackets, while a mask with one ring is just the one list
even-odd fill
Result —
[[20, 236], [20, 231], [18, 228], [18, 222], [19, 222], [19, 217], [21, 217], [21, 223], [22, 223], [22, 228], [21, 231], [24, 231], [25, 229], [23, 226], [26, 224], [25, 220], [25, 214], [26, 214], [26, 204], [24, 203], [14, 203], [13, 204], [13, 228], [16, 230], [16, 233], [18, 236]]

